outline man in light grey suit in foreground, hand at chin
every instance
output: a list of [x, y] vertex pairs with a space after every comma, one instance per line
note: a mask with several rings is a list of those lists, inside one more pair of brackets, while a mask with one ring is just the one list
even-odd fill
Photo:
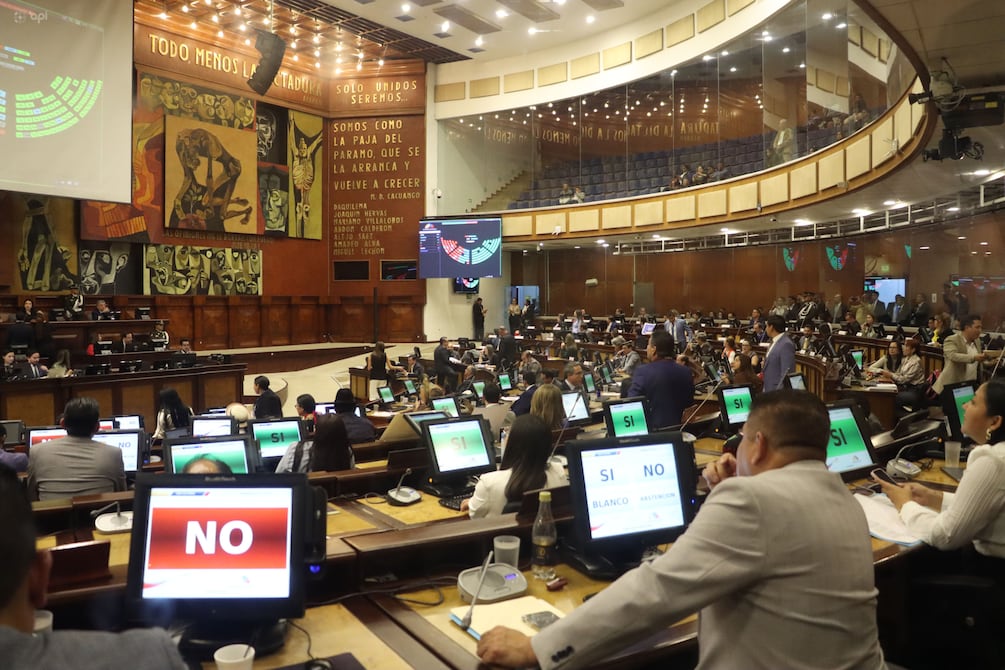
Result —
[[736, 457], [706, 468], [712, 492], [666, 553], [534, 638], [488, 631], [481, 660], [588, 668], [700, 611], [699, 669], [885, 668], [868, 524], [824, 463], [823, 403], [763, 394], [742, 434]]

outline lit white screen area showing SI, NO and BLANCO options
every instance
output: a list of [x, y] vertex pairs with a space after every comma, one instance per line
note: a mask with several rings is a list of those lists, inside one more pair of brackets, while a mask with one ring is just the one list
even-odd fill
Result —
[[684, 524], [670, 442], [584, 450], [582, 461], [593, 539]]

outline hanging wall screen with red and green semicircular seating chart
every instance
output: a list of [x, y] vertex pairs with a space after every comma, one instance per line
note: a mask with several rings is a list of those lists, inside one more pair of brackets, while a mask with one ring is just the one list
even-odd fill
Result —
[[502, 219], [497, 216], [419, 221], [419, 278], [502, 276]]

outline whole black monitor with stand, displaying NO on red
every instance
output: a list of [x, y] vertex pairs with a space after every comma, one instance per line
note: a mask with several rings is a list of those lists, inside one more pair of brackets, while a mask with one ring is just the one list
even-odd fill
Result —
[[278, 620], [305, 612], [310, 500], [303, 474], [141, 474], [130, 604], [149, 624], [191, 622], [179, 648], [192, 656], [234, 640], [274, 651]]

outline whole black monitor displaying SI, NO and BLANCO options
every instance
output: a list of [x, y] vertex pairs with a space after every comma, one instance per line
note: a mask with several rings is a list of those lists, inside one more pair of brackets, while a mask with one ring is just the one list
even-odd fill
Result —
[[[566, 443], [576, 549], [591, 577], [610, 579], [671, 542], [694, 517], [694, 450], [666, 432]], [[580, 563], [572, 557], [574, 567]]]

